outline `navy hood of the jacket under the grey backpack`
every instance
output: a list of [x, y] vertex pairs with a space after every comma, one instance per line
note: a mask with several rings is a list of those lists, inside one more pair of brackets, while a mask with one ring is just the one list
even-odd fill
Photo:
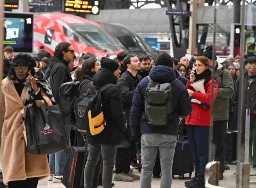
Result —
[[171, 67], [158, 65], [151, 68], [149, 77], [157, 83], [171, 82], [176, 78], [176, 73]]

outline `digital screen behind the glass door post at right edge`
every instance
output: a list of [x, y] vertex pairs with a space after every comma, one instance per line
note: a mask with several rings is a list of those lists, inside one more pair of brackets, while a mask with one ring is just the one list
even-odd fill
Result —
[[[234, 24], [234, 55], [240, 54], [241, 25]], [[256, 26], [245, 25], [245, 55], [256, 56]]]

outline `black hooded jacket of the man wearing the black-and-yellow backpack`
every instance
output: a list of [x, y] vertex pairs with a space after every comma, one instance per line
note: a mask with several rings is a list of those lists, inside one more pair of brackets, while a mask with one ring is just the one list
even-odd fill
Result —
[[[102, 87], [107, 83], [116, 84], [116, 78], [111, 71], [100, 68], [92, 82], [96, 87]], [[101, 98], [106, 127], [100, 134], [87, 136], [87, 141], [92, 145], [117, 145], [126, 130], [121, 91], [118, 87], [108, 88], [101, 93]]]

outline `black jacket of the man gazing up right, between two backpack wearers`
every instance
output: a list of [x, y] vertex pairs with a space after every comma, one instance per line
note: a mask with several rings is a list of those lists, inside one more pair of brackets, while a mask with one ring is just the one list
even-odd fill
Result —
[[132, 106], [132, 98], [134, 91], [139, 84], [139, 76], [134, 77], [132, 73], [126, 71], [117, 81], [117, 86], [121, 89], [124, 112], [127, 124], [129, 125], [130, 108]]

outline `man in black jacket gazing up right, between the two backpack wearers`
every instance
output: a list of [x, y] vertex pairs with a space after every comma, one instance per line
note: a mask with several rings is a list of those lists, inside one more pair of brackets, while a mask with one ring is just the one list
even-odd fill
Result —
[[[137, 72], [140, 70], [140, 61], [137, 55], [129, 54], [124, 58], [123, 65], [126, 68], [126, 72], [124, 72], [118, 79], [117, 86], [121, 89], [123, 109], [126, 115], [127, 124], [129, 126], [129, 115], [130, 107], [132, 106], [132, 98], [134, 90], [140, 81], [137, 75]], [[130, 129], [127, 129], [124, 136], [130, 141]], [[114, 180], [133, 181], [133, 179], [139, 179], [138, 175], [130, 172], [133, 150], [135, 150], [135, 144], [131, 144], [131, 146], [128, 148], [117, 149], [116, 175], [114, 176]]]

